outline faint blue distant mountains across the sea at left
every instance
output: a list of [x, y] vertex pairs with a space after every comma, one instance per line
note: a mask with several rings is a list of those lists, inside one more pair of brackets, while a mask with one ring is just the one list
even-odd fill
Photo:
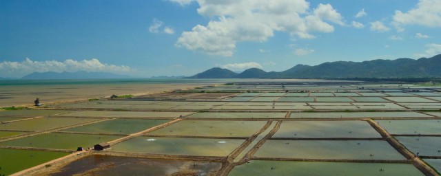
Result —
[[110, 79], [110, 78], [131, 78], [119, 74], [111, 74], [105, 72], [34, 72], [23, 76], [24, 80], [49, 80], [49, 79]]

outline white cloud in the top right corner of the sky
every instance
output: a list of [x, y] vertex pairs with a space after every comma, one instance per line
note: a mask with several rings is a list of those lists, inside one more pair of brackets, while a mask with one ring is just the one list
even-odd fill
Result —
[[420, 0], [416, 8], [407, 12], [396, 10], [393, 15], [393, 24], [397, 28], [402, 25], [423, 25], [428, 27], [441, 27], [441, 1]]

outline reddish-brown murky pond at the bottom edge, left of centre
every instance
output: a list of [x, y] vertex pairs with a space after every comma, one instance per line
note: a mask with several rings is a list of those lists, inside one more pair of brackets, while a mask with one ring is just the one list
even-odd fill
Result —
[[45, 175], [216, 175], [221, 166], [217, 162], [91, 155]]

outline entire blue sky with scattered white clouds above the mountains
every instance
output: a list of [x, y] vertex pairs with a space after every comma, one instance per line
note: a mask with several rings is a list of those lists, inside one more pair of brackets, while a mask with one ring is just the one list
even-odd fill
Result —
[[1, 0], [0, 77], [418, 59], [440, 31], [441, 0]]

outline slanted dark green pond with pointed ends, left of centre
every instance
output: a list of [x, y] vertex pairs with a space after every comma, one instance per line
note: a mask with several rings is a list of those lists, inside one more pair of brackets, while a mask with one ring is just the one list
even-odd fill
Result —
[[85, 132], [85, 133], [121, 133], [131, 134], [139, 131], [150, 129], [153, 126], [158, 126], [170, 122], [170, 120], [153, 120], [153, 119], [115, 119], [99, 122], [95, 124], [88, 124], [85, 126], [78, 126], [72, 129], [65, 129], [63, 131]]

